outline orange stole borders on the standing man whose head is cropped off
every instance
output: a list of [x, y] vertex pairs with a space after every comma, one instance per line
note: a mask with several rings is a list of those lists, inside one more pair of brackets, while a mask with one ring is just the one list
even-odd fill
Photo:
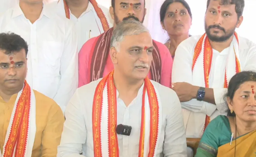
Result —
[[[89, 0], [89, 1], [91, 2], [91, 4], [92, 4], [93, 8], [95, 9], [98, 17], [101, 20], [101, 24], [102, 24], [104, 32], [107, 31], [109, 29], [109, 25], [108, 25], [108, 21], [107, 21], [106, 16], [104, 15], [103, 11], [98, 6], [98, 3], [95, 0]], [[68, 8], [66, 0], [63, 0], [63, 3], [64, 3], [66, 18], [70, 19], [69, 8]]]

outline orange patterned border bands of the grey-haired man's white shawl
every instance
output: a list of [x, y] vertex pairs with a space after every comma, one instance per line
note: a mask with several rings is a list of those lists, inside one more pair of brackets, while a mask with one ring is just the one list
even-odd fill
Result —
[[[103, 102], [103, 89], [107, 83], [108, 91], [108, 143], [109, 143], [109, 157], [119, 157], [118, 137], [116, 134], [117, 126], [117, 102], [116, 102], [116, 88], [113, 82], [113, 71], [104, 77], [96, 87], [92, 106], [92, 131], [93, 131], [93, 147], [94, 157], [102, 157], [101, 152], [101, 113]], [[145, 85], [143, 88], [142, 101], [142, 120], [141, 120], [141, 136], [138, 157], [144, 155], [144, 137], [145, 137], [145, 95], [148, 93], [148, 100], [150, 106], [150, 140], [149, 140], [149, 154], [148, 157], [153, 157], [157, 141], [158, 123], [159, 123], [159, 106], [153, 84], [148, 78], [145, 78]]]

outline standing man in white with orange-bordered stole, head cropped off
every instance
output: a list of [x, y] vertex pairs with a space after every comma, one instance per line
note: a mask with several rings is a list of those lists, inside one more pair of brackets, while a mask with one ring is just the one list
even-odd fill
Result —
[[78, 50], [90, 38], [113, 27], [109, 9], [98, 4], [96, 0], [59, 0], [52, 2], [51, 6], [61, 17], [74, 23], [78, 35]]

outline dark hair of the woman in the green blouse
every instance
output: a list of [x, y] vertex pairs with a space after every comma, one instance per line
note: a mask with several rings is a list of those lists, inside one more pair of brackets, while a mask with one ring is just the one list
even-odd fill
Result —
[[[255, 81], [256, 82], [256, 73], [253, 71], [242, 71], [234, 75], [231, 80], [229, 81], [228, 92], [224, 96], [226, 100], [227, 97], [230, 100], [233, 100], [236, 90], [240, 87], [241, 84], [248, 81]], [[228, 105], [228, 104], [227, 104]], [[235, 112], [231, 113], [230, 109], [228, 110], [228, 116], [235, 116]]]

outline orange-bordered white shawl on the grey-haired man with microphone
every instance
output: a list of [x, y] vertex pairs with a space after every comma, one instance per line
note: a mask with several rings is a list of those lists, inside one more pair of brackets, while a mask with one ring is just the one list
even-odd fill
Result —
[[[113, 72], [104, 77], [95, 90], [92, 108], [94, 157], [119, 157], [117, 98]], [[162, 129], [162, 106], [151, 81], [144, 81], [141, 135], [138, 157], [156, 157]]]

